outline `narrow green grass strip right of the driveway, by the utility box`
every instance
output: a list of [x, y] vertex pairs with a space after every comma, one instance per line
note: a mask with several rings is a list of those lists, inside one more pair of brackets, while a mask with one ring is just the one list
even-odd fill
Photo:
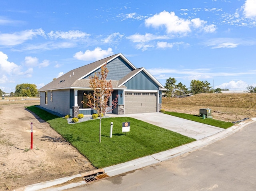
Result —
[[212, 125], [212, 126], [216, 126], [216, 127], [220, 127], [220, 128], [224, 128], [224, 129], [229, 128], [229, 127], [234, 125], [231, 122], [215, 120], [215, 119], [212, 119], [212, 118], [203, 119], [200, 116], [191, 115], [191, 114], [176, 113], [176, 112], [169, 112], [169, 111], [164, 112], [164, 114], [168, 114], [168, 115], [172, 115], [172, 116], [180, 117], [180, 118], [183, 118], [183, 119], [188, 119], [188, 120], [191, 120], [191, 121], [196, 121], [196, 122], [199, 122], [199, 123]]

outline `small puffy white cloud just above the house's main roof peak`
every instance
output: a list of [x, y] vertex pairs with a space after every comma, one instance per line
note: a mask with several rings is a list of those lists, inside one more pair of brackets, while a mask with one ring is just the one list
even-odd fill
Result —
[[113, 55], [112, 48], [102, 50], [100, 47], [96, 47], [94, 50], [86, 50], [84, 53], [82, 51], [79, 51], [74, 55], [74, 58], [78, 60], [91, 61], [100, 60], [110, 55]]

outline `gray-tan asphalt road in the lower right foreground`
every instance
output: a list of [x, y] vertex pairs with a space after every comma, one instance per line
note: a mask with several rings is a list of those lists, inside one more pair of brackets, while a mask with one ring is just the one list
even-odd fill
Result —
[[256, 122], [194, 152], [69, 191], [254, 191]]

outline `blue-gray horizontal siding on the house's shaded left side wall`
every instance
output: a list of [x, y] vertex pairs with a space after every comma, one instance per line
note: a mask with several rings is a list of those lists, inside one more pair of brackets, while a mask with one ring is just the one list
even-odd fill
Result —
[[69, 89], [52, 91], [52, 101], [50, 101], [50, 91], [48, 91], [48, 104], [44, 104], [44, 91], [40, 92], [40, 106], [63, 115], [69, 114]]

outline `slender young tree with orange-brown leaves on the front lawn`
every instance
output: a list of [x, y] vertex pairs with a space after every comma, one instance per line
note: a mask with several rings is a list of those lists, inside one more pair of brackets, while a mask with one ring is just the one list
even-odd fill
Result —
[[[106, 64], [102, 65], [101, 70], [98, 73], [94, 73], [94, 76], [89, 77], [90, 79], [90, 88], [93, 90], [93, 95], [88, 94], [86, 95], [88, 98], [87, 105], [95, 109], [100, 117], [100, 133], [99, 133], [99, 141], [101, 142], [101, 118], [102, 114], [105, 114], [106, 112], [109, 112], [110, 110], [113, 110], [116, 108], [117, 105], [117, 98], [118, 95], [116, 95], [116, 98], [112, 100], [112, 108], [109, 109], [108, 107], [108, 100], [113, 92], [113, 87], [111, 84], [111, 80], [107, 81], [108, 75], [108, 69], [106, 67]], [[85, 102], [82, 101], [84, 104]]]

